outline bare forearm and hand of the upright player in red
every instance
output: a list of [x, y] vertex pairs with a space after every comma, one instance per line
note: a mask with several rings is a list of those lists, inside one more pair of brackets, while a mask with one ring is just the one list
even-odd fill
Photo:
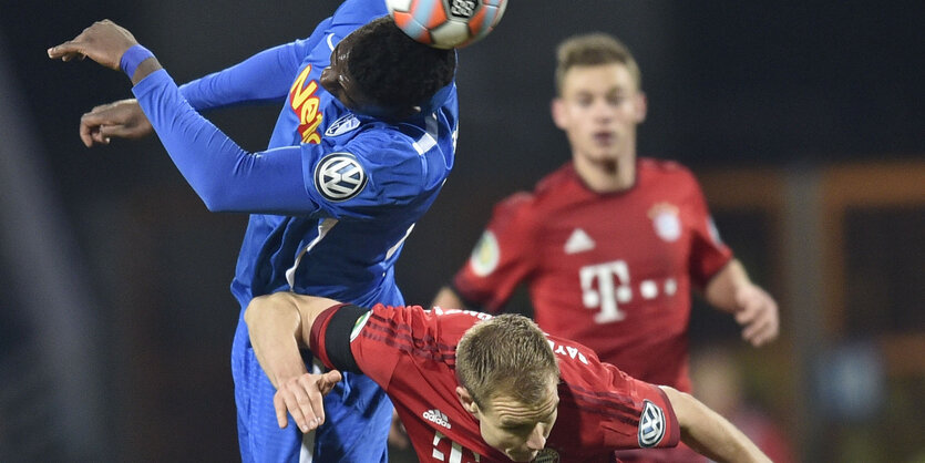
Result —
[[728, 311], [742, 326], [742, 339], [754, 347], [778, 338], [780, 313], [774, 298], [753, 284], [739, 260], [730, 261], [705, 289], [715, 307]]

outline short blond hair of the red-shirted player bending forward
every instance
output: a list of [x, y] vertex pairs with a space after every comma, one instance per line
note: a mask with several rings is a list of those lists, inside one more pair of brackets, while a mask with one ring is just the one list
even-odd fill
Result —
[[558, 364], [533, 320], [504, 313], [476, 323], [460, 339], [456, 378], [480, 408], [499, 395], [534, 404], [548, 397], [551, 382], [558, 382]]

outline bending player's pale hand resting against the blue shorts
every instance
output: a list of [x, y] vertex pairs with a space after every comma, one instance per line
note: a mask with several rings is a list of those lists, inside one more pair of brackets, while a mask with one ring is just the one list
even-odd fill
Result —
[[325, 422], [323, 397], [341, 378], [339, 371], [331, 370], [323, 374], [305, 373], [282, 381], [273, 397], [279, 428], [288, 424], [287, 412], [304, 433], [320, 426]]

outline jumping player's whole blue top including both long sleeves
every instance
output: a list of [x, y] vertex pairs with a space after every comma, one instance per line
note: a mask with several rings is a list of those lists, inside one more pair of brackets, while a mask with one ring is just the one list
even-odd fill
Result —
[[[402, 303], [393, 266], [452, 168], [455, 85], [438, 92], [421, 114], [386, 123], [351, 113], [318, 83], [332, 48], [382, 14], [381, 0], [348, 1], [308, 39], [261, 52], [179, 92], [165, 71], [134, 89], [210, 209], [271, 213], [249, 219], [232, 285], [241, 308], [254, 296], [278, 290], [367, 306]], [[184, 106], [183, 99], [189, 103], [183, 111], [165, 107]], [[284, 102], [261, 153], [244, 152], [193, 111], [254, 101]], [[176, 122], [183, 117], [189, 122]], [[204, 162], [203, 153], [214, 160]]]

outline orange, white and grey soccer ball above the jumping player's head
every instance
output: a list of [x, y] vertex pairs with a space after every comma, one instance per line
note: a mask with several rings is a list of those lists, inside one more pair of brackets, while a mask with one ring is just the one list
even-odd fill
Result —
[[386, 0], [386, 6], [412, 39], [452, 49], [487, 35], [501, 21], [507, 0]]

